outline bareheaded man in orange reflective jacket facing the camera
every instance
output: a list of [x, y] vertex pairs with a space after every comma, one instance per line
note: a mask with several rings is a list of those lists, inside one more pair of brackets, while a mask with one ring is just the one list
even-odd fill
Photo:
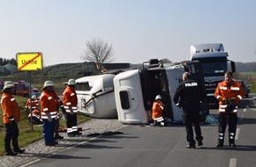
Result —
[[217, 147], [224, 145], [225, 130], [229, 124], [230, 146], [236, 147], [235, 136], [237, 131], [237, 104], [244, 98], [245, 93], [241, 84], [233, 80], [230, 71], [225, 73], [225, 80], [218, 84], [215, 90], [215, 98], [219, 101], [219, 134]]

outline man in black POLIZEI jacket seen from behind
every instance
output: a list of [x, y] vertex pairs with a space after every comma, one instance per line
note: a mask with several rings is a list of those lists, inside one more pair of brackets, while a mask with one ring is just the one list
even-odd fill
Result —
[[202, 146], [203, 137], [200, 128], [200, 104], [205, 100], [205, 95], [200, 84], [191, 79], [189, 72], [184, 72], [183, 82], [178, 85], [173, 100], [175, 104], [183, 109], [182, 117], [187, 133], [186, 140], [189, 142], [186, 148], [196, 148], [192, 127], [194, 127], [198, 146]]

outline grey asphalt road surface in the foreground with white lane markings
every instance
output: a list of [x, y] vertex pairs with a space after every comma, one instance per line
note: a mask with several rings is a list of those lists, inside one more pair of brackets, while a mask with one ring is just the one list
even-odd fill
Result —
[[[246, 100], [245, 100], [246, 101]], [[215, 109], [210, 113], [217, 113]], [[256, 108], [239, 108], [236, 143], [216, 148], [217, 126], [202, 126], [204, 145], [186, 149], [184, 127], [130, 125], [117, 134], [101, 135], [23, 166], [89, 167], [251, 167], [256, 165]], [[227, 130], [228, 131], [228, 130]]]

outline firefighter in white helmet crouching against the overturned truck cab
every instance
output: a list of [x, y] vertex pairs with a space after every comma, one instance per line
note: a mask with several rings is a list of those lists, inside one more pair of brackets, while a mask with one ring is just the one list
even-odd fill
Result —
[[164, 104], [162, 103], [161, 95], [157, 95], [154, 99], [152, 107], [152, 119], [154, 120], [154, 126], [164, 126], [164, 120], [162, 118]]

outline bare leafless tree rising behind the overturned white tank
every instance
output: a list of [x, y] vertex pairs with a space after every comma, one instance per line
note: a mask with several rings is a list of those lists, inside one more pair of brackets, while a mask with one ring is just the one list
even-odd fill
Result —
[[100, 38], [94, 38], [87, 41], [87, 47], [80, 59], [86, 62], [95, 62], [97, 69], [103, 74], [107, 70], [102, 66], [102, 63], [114, 62], [115, 60], [113, 47]]

